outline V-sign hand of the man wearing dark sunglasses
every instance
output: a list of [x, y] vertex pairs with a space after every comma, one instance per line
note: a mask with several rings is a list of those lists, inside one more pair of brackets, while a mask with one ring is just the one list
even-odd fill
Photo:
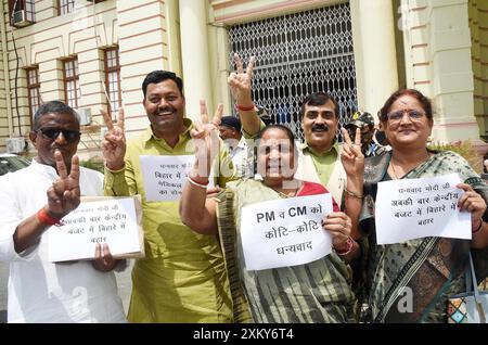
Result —
[[56, 168], [60, 178], [48, 189], [48, 214], [62, 218], [79, 205], [79, 159], [74, 155], [69, 175], [63, 155], [59, 150], [54, 152]]

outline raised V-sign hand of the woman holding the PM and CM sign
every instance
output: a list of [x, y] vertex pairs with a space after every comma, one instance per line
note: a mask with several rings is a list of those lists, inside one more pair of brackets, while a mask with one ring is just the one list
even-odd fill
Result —
[[205, 101], [200, 101], [201, 120], [194, 122], [194, 127], [190, 136], [195, 143], [195, 166], [194, 173], [203, 178], [208, 178], [210, 165], [214, 157], [219, 152], [219, 125], [222, 118], [223, 105], [219, 103], [214, 114], [211, 123], [208, 122], [208, 112]]

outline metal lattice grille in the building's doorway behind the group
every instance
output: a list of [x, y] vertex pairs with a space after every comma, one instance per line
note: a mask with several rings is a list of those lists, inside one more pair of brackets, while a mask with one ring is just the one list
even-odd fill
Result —
[[341, 125], [357, 110], [349, 3], [232, 26], [229, 44], [231, 69], [234, 52], [244, 60], [256, 56], [256, 104], [297, 138], [304, 138], [300, 104], [312, 92], [324, 91], [337, 100]]

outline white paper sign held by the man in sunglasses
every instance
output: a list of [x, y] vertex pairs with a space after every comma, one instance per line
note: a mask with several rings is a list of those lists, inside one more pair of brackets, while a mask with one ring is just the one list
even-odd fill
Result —
[[141, 197], [90, 196], [48, 230], [49, 260], [93, 259], [97, 243], [115, 258], [144, 257]]

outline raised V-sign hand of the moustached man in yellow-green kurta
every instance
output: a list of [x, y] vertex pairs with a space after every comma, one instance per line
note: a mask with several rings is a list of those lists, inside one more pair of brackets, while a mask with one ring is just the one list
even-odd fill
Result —
[[126, 135], [124, 128], [124, 110], [118, 111], [118, 120], [114, 125], [107, 112], [101, 110], [107, 131], [102, 140], [102, 154], [106, 167], [111, 170], [119, 170], [124, 167], [126, 155]]

